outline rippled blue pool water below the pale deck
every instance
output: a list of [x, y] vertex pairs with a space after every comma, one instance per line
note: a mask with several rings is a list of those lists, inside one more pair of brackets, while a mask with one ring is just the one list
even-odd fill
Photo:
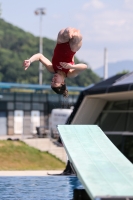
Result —
[[0, 200], [72, 200], [77, 177], [0, 177]]

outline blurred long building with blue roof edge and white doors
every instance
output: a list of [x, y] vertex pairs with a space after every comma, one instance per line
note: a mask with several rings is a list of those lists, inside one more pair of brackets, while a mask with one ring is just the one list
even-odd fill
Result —
[[0, 135], [30, 135], [37, 126], [48, 128], [51, 110], [74, 106], [82, 89], [68, 87], [70, 95], [64, 102], [50, 85], [0, 83]]

